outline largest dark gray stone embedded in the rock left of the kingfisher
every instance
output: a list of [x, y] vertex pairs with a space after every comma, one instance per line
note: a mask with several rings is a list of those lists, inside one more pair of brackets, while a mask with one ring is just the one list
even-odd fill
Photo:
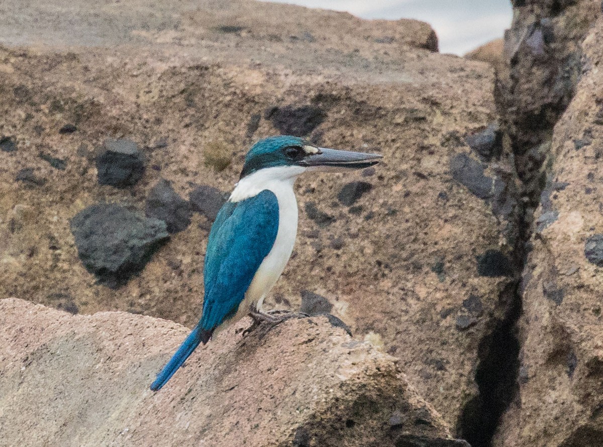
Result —
[[163, 220], [116, 204], [91, 205], [71, 219], [80, 260], [99, 282], [119, 287], [139, 273], [169, 239]]

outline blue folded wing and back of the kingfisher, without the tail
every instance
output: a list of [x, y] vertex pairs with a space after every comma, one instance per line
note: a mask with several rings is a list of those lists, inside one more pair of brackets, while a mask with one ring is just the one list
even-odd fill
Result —
[[203, 330], [212, 331], [234, 316], [278, 230], [279, 202], [270, 190], [224, 204], [207, 242]]

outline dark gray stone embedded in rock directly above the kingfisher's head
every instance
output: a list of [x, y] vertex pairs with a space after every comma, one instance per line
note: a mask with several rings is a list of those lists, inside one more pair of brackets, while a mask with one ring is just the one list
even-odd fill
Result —
[[270, 119], [281, 134], [305, 137], [326, 119], [326, 112], [315, 105], [293, 107], [273, 107], [266, 111], [266, 119]]

